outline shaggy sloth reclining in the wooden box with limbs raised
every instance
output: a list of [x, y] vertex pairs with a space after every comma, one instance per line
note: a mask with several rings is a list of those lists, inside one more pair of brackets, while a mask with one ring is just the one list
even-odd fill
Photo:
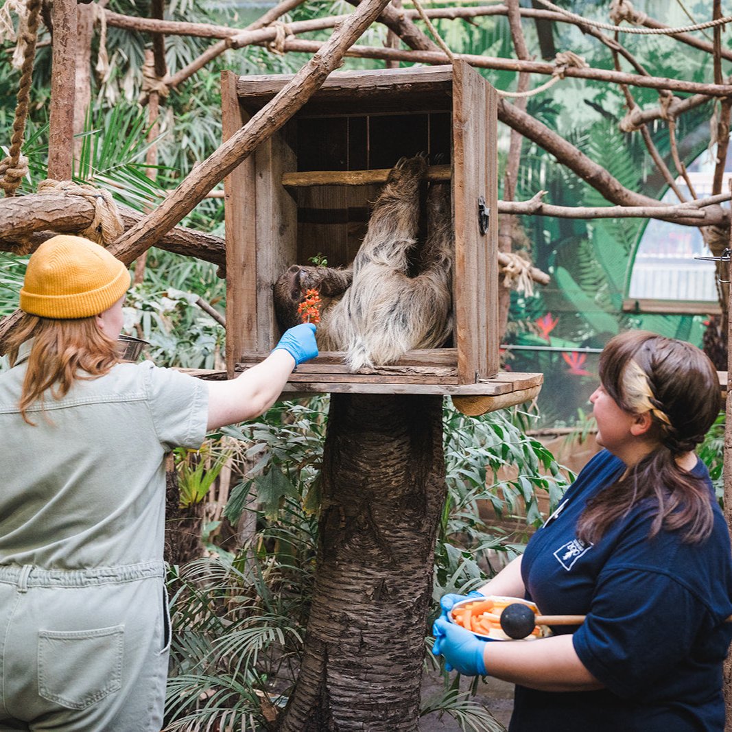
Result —
[[318, 290], [318, 348], [345, 351], [351, 371], [393, 363], [411, 348], [437, 348], [452, 332], [449, 182], [430, 184], [419, 242], [426, 173], [422, 155], [389, 171], [351, 268], [293, 265], [273, 287], [283, 329], [299, 322], [305, 290]]

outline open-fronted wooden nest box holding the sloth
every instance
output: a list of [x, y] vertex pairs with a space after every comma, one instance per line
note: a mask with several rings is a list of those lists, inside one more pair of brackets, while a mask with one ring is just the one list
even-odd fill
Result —
[[[224, 72], [224, 139], [290, 79]], [[298, 367], [286, 390], [449, 394], [466, 397], [463, 406], [476, 414], [538, 392], [541, 374], [498, 372], [496, 91], [460, 61], [331, 74], [225, 179], [229, 376], [264, 358], [280, 337], [275, 280], [313, 258], [350, 264], [389, 168], [420, 152], [429, 156], [428, 177], [452, 182], [452, 341], [356, 373], [340, 354], [321, 354]], [[476, 397], [479, 406], [470, 406]]]

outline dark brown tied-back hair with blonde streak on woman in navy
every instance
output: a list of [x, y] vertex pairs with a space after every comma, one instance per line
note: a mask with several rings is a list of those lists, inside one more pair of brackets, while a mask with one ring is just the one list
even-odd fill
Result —
[[676, 463], [703, 441], [721, 407], [712, 362], [681, 340], [646, 331], [614, 337], [600, 355], [600, 381], [630, 414], [651, 416], [656, 447], [618, 482], [588, 501], [578, 538], [597, 542], [610, 524], [645, 498], [655, 502], [649, 537], [661, 529], [682, 531], [684, 542], [701, 542], [714, 520], [706, 481]]

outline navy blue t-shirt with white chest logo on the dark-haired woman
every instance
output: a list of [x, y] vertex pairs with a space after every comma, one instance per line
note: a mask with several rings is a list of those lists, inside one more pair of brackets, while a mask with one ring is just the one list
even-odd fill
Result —
[[[586, 615], [574, 632], [580, 661], [605, 689], [541, 692], [516, 687], [509, 732], [722, 731], [722, 660], [732, 639], [732, 559], [714, 499], [714, 529], [701, 544], [678, 531], [649, 539], [643, 501], [597, 544], [575, 535], [589, 498], [612, 485], [624, 464], [607, 451], [587, 463], [526, 547], [526, 597], [545, 615]], [[692, 474], [706, 478], [698, 461]], [[644, 505], [645, 504], [645, 505]], [[542, 641], [533, 641], [541, 643]]]

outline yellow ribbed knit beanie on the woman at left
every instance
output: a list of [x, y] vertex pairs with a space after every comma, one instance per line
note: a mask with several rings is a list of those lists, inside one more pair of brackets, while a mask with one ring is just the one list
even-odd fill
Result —
[[61, 234], [31, 254], [20, 310], [41, 318], [89, 318], [114, 305], [130, 287], [130, 272], [100, 244]]

